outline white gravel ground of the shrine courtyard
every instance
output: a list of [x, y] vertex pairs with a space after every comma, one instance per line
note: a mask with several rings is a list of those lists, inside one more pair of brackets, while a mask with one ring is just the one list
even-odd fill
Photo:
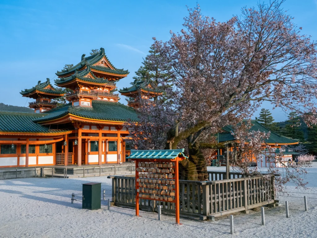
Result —
[[[317, 198], [317, 162], [308, 171], [307, 190], [292, 185], [287, 190], [315, 193], [307, 197]], [[71, 204], [71, 194], [80, 194], [81, 184], [86, 182], [101, 182], [106, 199], [111, 198], [111, 179], [106, 176], [1, 180], [0, 237], [317, 237], [317, 199], [308, 199], [305, 212], [305, 194], [289, 194], [300, 198], [280, 197], [282, 205], [266, 211], [265, 226], [259, 212], [234, 214], [235, 234], [230, 235], [226, 218], [214, 222], [181, 218], [183, 225], [178, 226], [174, 217], [163, 215], [163, 221], [158, 221], [156, 213], [135, 217], [135, 211], [128, 208], [83, 210], [81, 202]], [[285, 217], [285, 200], [289, 201], [290, 218]]]

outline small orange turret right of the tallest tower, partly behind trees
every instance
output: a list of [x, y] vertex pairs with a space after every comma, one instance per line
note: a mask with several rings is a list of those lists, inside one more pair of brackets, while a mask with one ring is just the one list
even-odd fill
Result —
[[133, 107], [134, 109], [140, 107], [141, 100], [146, 100], [147, 103], [154, 104], [154, 101], [151, 99], [162, 95], [161, 91], [154, 89], [147, 81], [134, 83], [133, 86], [120, 89], [119, 92], [124, 96], [134, 98], [134, 100], [128, 102], [128, 106]]

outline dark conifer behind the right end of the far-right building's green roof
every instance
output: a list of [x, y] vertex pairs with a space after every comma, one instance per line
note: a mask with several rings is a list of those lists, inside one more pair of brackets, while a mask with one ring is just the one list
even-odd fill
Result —
[[285, 136], [293, 139], [298, 139], [301, 142], [304, 141], [304, 133], [301, 130], [301, 119], [296, 112], [291, 112], [288, 115], [288, 120], [285, 126]]

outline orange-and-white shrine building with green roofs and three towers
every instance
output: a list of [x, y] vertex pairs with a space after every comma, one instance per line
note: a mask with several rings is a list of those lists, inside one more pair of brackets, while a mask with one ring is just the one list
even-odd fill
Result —
[[[128, 74], [115, 68], [100, 48], [100, 53], [82, 55], [72, 68], [57, 71], [56, 84], [70, 93], [56, 90], [49, 79], [21, 91], [35, 100], [29, 107], [36, 113], [0, 112], [0, 167], [125, 162], [129, 132], [124, 123], [138, 120], [139, 99], [153, 103], [150, 99], [157, 95], [141, 82], [120, 90], [135, 99], [129, 106], [119, 103], [113, 90]], [[62, 96], [69, 103], [52, 102]]]

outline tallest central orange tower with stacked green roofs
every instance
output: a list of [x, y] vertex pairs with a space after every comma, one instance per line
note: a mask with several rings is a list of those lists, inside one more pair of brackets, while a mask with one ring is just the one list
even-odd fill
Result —
[[55, 83], [59, 87], [73, 90], [66, 99], [73, 106], [92, 107], [92, 100], [118, 102], [119, 94], [113, 94], [118, 80], [126, 77], [128, 70], [117, 69], [108, 60], [104, 48], [89, 57], [81, 56], [81, 62], [75, 66], [57, 71], [59, 77]]

